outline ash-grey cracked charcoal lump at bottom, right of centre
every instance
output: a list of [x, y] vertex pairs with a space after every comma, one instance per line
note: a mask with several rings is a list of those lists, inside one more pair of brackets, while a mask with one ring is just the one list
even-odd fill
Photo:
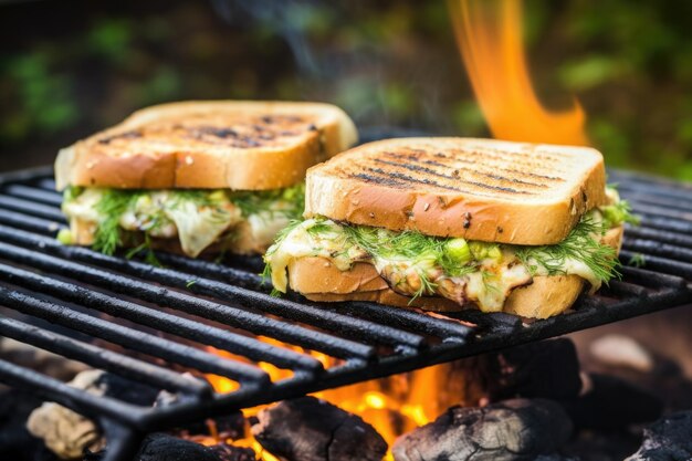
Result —
[[450, 408], [430, 425], [400, 437], [396, 461], [518, 461], [554, 453], [572, 421], [551, 400], [513, 399], [483, 408]]

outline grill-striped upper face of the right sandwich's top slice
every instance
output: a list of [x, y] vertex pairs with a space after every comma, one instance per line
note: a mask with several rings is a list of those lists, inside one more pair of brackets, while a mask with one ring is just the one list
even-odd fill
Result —
[[473, 148], [439, 150], [401, 147], [365, 153], [338, 175], [395, 188], [426, 185], [432, 189], [483, 197], [537, 196], [564, 182], [569, 165], [549, 153], [512, 153]]

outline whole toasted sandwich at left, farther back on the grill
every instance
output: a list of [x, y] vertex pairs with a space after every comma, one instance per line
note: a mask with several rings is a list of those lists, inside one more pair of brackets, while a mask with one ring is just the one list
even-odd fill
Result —
[[71, 228], [61, 239], [105, 253], [263, 252], [303, 211], [307, 168], [356, 140], [350, 118], [329, 104], [145, 108], [57, 155], [55, 181]]

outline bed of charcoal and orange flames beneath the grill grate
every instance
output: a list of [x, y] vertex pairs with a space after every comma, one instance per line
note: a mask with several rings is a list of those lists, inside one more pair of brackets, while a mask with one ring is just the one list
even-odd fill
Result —
[[[617, 342], [620, 347], [601, 354]], [[648, 455], [684, 452], [692, 413], [669, 417], [677, 421], [672, 431], [668, 420], [652, 426], [643, 443], [639, 429], [628, 429], [656, 420], [663, 409], [689, 408], [692, 383], [672, 371], [672, 363], [627, 342], [614, 335], [594, 343], [601, 350], [600, 373], [580, 367], [572, 340], [560, 338], [210, 417], [150, 434], [135, 460], [590, 460], [623, 459], [638, 449]], [[622, 378], [628, 374], [640, 385], [648, 379], [646, 388]], [[138, 405], [166, 407], [176, 398], [96, 370], [82, 371], [74, 383]], [[660, 398], [662, 386], [668, 395]], [[64, 407], [38, 407], [38, 399], [14, 390], [0, 401], [0, 421], [13, 418], [12, 439], [0, 437], [0, 453], [15, 453], [17, 461], [57, 460], [50, 450], [63, 459], [102, 461], [113, 448], [112, 428], [99, 429]], [[23, 429], [25, 419], [39, 439]], [[0, 425], [0, 433], [6, 429]], [[32, 451], [23, 449], [29, 443]]]

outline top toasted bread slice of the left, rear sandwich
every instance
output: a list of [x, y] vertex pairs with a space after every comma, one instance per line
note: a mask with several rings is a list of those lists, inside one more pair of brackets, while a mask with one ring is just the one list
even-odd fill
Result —
[[350, 118], [329, 104], [171, 103], [62, 149], [55, 182], [59, 189], [279, 189], [356, 140]]

